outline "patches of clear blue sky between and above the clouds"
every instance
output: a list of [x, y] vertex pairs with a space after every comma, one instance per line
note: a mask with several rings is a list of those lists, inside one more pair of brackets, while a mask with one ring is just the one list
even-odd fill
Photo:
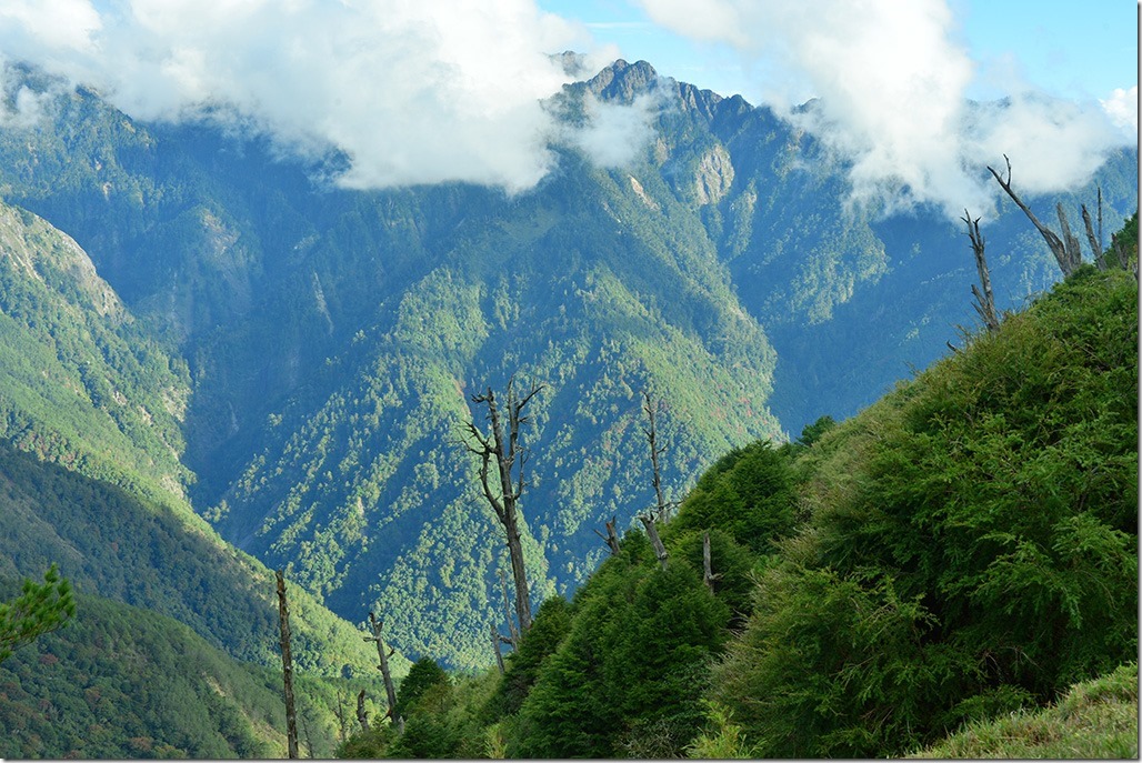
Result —
[[[845, 0], [850, 2], [851, 0]], [[600, 43], [630, 61], [646, 59], [662, 74], [757, 103], [756, 82], [727, 45], [699, 42], [650, 19], [634, 0], [538, 0], [582, 22]], [[701, 3], [692, 2], [697, 8]], [[976, 65], [968, 94], [1007, 95], [1018, 77], [1057, 97], [1108, 98], [1137, 85], [1137, 6], [1125, 0], [948, 0], [957, 27], [951, 39]]]

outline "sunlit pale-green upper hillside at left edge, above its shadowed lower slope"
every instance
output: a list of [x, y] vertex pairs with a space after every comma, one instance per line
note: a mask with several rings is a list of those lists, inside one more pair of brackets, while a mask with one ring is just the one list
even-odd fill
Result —
[[147, 498], [185, 501], [185, 363], [136, 324], [72, 239], [3, 203], [0, 369], [0, 436]]

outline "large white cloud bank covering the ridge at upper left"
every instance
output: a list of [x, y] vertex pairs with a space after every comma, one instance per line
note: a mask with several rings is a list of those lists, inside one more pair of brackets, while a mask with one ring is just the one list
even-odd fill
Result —
[[[540, 102], [570, 81], [547, 54], [588, 45], [532, 0], [0, 3], [0, 56], [95, 87], [135, 119], [231, 115], [304, 155], [336, 146], [351, 160], [338, 182], [357, 188], [533, 186], [554, 161]], [[33, 118], [24, 98], [0, 121]]]

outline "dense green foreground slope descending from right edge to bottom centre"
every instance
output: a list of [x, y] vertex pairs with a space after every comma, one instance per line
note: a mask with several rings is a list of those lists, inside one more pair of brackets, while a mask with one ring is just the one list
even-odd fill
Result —
[[424, 658], [404, 733], [339, 754], [894, 757], [1118, 669], [1076, 690], [1127, 702], [1081, 749], [1136, 755], [1137, 299], [1085, 266], [858, 416], [734, 449], [665, 565], [627, 532], [506, 673]]

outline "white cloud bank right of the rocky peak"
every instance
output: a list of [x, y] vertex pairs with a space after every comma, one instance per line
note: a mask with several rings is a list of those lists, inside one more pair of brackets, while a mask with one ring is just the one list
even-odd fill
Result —
[[[1127, 134], [1125, 117], [1116, 127], [1095, 103], [1021, 89], [1005, 104], [970, 104], [975, 64], [944, 0], [641, 3], [656, 23], [778, 72], [761, 82], [763, 99], [852, 162], [855, 203], [989, 215], [997, 188], [984, 168], [1003, 167], [1004, 154], [1020, 192], [1046, 193], [1084, 183], [1112, 148], [1136, 139], [1136, 119]], [[819, 101], [794, 110], [806, 87]], [[1133, 97], [1136, 107], [1136, 88]], [[1124, 102], [1126, 94], [1115, 105]]]

